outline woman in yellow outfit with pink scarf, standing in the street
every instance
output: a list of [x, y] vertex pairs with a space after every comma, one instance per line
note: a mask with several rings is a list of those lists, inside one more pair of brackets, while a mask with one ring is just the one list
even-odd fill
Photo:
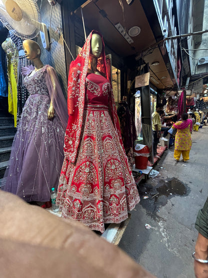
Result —
[[179, 161], [182, 153], [182, 161], [185, 162], [189, 159], [189, 151], [191, 149], [191, 136], [192, 121], [188, 119], [188, 114], [183, 113], [181, 115], [181, 121], [173, 124], [172, 128], [177, 129], [175, 135], [175, 149], [174, 149], [174, 160]]

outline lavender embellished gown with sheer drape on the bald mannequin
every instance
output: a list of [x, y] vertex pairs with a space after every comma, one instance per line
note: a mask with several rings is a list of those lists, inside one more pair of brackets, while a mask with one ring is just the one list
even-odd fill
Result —
[[[52, 80], [51, 80], [52, 77]], [[53, 82], [56, 90], [53, 90]], [[57, 188], [63, 163], [67, 106], [54, 69], [44, 66], [24, 79], [30, 96], [25, 102], [15, 134], [10, 166], [4, 175], [3, 190], [25, 201], [48, 201], [50, 189]], [[47, 119], [50, 99], [55, 116]]]

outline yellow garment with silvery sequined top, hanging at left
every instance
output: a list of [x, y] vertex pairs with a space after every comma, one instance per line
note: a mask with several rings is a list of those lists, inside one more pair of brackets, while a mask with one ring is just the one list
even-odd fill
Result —
[[6, 39], [1, 46], [6, 53], [7, 62], [8, 112], [13, 115], [14, 127], [16, 127], [18, 51], [11, 38]]

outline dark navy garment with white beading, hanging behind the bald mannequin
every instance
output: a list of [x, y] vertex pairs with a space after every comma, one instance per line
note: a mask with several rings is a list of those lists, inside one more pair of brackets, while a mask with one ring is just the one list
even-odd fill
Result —
[[24, 75], [22, 75], [22, 67], [33, 65], [32, 61], [27, 60], [23, 51], [23, 40], [13, 33], [10, 33], [10, 38], [18, 50], [18, 67], [17, 67], [17, 125], [19, 123], [21, 112], [27, 100], [29, 93], [24, 85]]

